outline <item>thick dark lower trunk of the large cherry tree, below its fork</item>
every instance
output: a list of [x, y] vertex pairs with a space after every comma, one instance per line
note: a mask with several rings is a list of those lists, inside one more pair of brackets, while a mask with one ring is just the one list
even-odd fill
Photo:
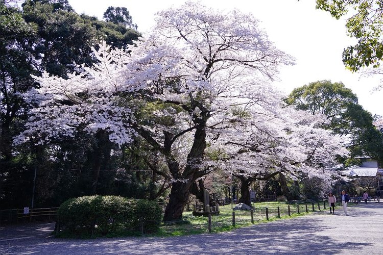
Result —
[[182, 219], [182, 212], [189, 200], [191, 186], [192, 183], [177, 182], [173, 184], [163, 221]]

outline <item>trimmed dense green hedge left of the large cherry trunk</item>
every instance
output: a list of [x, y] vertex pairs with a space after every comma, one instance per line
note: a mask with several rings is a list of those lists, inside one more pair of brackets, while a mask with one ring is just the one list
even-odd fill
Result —
[[56, 235], [118, 235], [156, 232], [161, 208], [155, 201], [121, 196], [82, 196], [66, 200], [57, 211]]

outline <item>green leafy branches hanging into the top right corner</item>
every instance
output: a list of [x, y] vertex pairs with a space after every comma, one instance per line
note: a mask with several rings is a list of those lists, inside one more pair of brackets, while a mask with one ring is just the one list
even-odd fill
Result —
[[317, 0], [317, 8], [340, 19], [348, 14], [348, 35], [358, 39], [343, 51], [343, 62], [351, 71], [378, 67], [383, 57], [383, 2], [379, 0]]

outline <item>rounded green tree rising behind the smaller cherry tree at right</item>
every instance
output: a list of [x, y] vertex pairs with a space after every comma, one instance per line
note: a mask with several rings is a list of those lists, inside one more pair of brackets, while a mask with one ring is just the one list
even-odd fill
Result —
[[348, 149], [352, 158], [382, 159], [382, 134], [373, 125], [371, 113], [358, 104], [356, 95], [343, 83], [309, 83], [294, 89], [285, 102], [298, 110], [325, 115], [329, 120], [326, 129], [350, 138]]

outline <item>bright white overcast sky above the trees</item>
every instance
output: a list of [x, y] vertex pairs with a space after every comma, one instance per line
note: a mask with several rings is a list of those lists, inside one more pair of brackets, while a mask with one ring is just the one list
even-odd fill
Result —
[[[78, 13], [102, 19], [109, 6], [126, 7], [141, 33], [149, 32], [155, 13], [185, 0], [69, 0]], [[347, 37], [345, 20], [336, 20], [329, 13], [316, 10], [315, 0], [208, 0], [203, 5], [221, 10], [234, 8], [251, 12], [262, 21], [275, 45], [296, 58], [296, 65], [281, 69], [275, 84], [290, 93], [294, 88], [318, 80], [343, 82], [358, 96], [359, 103], [372, 114], [383, 115], [379, 97], [383, 92], [370, 91], [377, 79], [359, 79], [342, 63], [343, 48], [353, 44]], [[381, 100], [381, 99], [380, 99]]]

